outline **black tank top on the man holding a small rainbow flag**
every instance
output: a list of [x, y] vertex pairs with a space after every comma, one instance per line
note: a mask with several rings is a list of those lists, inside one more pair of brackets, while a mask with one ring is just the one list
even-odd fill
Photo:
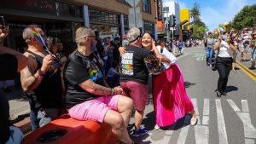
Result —
[[[42, 66], [44, 57], [27, 50], [26, 52], [35, 56], [38, 67]], [[31, 110], [38, 111], [44, 108], [61, 108], [63, 107], [63, 97], [61, 88], [61, 67], [60, 62], [55, 60], [53, 66], [55, 69], [45, 73], [44, 78], [36, 89], [26, 93]]]

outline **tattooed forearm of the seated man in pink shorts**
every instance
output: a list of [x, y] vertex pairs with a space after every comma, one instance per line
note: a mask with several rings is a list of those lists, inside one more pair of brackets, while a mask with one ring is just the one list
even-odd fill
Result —
[[84, 81], [79, 86], [90, 94], [94, 95], [119, 95], [123, 93], [123, 89], [115, 87], [113, 89], [95, 84], [91, 79]]

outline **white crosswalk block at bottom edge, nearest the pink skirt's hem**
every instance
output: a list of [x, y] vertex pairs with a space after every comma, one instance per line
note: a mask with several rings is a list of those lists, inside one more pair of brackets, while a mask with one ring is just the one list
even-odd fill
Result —
[[203, 125], [195, 125], [195, 143], [208, 144], [209, 143], [209, 127]]

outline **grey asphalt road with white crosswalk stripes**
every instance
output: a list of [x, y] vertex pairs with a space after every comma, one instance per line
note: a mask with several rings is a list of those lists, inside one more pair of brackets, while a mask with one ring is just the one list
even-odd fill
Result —
[[[154, 130], [154, 109], [149, 99], [143, 119], [148, 135], [133, 139], [146, 144], [255, 144], [255, 81], [241, 70], [230, 72], [228, 93], [218, 98], [214, 92], [218, 72], [206, 66], [203, 48], [185, 49], [184, 55], [178, 57], [178, 65], [183, 69], [187, 92], [199, 115], [197, 125], [190, 126], [187, 115], [164, 130]], [[131, 124], [133, 121], [131, 118]]]

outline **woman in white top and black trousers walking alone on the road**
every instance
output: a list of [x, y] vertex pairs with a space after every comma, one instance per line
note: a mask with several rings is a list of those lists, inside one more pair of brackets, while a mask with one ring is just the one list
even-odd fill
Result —
[[226, 95], [225, 89], [227, 87], [230, 70], [232, 69], [232, 56], [236, 51], [236, 46], [233, 41], [230, 40], [230, 36], [219, 36], [218, 42], [214, 45], [214, 50], [218, 49], [218, 55], [216, 60], [216, 66], [218, 70], [218, 89], [216, 89], [216, 95]]

